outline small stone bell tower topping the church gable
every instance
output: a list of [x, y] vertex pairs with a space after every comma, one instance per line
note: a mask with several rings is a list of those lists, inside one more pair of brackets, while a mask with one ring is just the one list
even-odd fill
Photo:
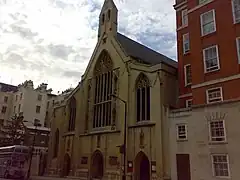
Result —
[[113, 0], [105, 0], [99, 15], [98, 38], [117, 34], [118, 9]]

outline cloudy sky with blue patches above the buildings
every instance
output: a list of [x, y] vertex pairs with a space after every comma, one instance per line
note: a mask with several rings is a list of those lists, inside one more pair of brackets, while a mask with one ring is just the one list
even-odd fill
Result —
[[[54, 92], [80, 81], [104, 0], [0, 0], [0, 82]], [[174, 0], [115, 0], [118, 31], [176, 59]]]

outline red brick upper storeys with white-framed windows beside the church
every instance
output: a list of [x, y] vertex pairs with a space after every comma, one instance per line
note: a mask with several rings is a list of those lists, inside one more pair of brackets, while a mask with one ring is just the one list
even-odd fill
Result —
[[180, 107], [240, 97], [240, 1], [176, 0]]

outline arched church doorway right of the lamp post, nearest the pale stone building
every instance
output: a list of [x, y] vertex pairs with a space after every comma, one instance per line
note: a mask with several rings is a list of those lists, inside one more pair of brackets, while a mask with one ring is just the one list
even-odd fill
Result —
[[150, 180], [150, 163], [148, 157], [141, 151], [135, 158], [135, 180]]

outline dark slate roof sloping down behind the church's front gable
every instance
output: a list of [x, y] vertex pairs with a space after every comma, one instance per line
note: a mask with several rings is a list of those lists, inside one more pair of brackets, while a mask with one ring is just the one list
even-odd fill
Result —
[[117, 40], [124, 48], [126, 53], [133, 57], [140, 59], [144, 63], [155, 65], [159, 63], [165, 63], [172, 67], [177, 68], [177, 62], [164, 56], [120, 33], [117, 33]]

